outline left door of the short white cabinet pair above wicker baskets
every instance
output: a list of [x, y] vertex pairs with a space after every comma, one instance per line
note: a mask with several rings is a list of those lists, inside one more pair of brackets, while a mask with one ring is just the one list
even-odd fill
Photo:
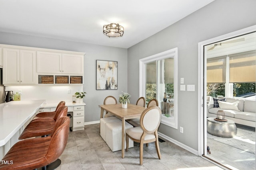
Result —
[[37, 72], [62, 73], [61, 53], [37, 51]]

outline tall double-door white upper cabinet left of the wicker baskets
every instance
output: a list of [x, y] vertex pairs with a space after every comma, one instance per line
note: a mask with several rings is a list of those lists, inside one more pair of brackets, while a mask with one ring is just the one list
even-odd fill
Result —
[[36, 51], [4, 48], [3, 84], [36, 84]]

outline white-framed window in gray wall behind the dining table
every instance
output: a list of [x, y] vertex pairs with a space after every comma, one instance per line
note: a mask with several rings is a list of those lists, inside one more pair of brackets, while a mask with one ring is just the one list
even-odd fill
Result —
[[[158, 100], [162, 122], [177, 129], [177, 48], [140, 59], [140, 96]], [[164, 93], [168, 101], [164, 102]]]

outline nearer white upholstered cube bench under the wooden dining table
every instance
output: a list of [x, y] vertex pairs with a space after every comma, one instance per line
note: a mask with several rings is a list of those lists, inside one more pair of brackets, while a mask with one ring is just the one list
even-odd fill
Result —
[[[125, 122], [125, 129], [130, 129], [132, 127], [132, 125]], [[122, 121], [110, 122], [106, 124], [106, 143], [112, 152], [122, 150]], [[133, 141], [129, 139], [129, 148], [132, 147]], [[126, 148], [126, 142], [124, 148]]]

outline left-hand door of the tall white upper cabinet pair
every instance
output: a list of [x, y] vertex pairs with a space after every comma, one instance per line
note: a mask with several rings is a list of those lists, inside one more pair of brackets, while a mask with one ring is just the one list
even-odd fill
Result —
[[3, 49], [3, 84], [20, 84], [20, 50]]

